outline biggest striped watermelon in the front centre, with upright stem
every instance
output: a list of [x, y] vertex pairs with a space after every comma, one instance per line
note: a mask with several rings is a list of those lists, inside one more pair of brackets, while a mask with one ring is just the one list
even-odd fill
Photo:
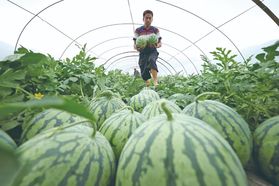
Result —
[[116, 186], [248, 186], [228, 142], [210, 125], [166, 113], [144, 122], [121, 153]]

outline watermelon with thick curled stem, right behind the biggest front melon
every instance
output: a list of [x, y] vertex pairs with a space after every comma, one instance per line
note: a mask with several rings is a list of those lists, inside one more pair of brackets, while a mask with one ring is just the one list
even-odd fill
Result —
[[229, 106], [214, 100], [199, 101], [207, 94], [202, 93], [195, 102], [187, 105], [182, 114], [198, 118], [215, 128], [232, 146], [243, 166], [249, 161], [253, 138], [246, 121]]

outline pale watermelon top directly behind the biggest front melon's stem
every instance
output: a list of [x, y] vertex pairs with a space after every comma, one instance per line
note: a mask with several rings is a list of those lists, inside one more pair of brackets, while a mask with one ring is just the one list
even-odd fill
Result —
[[146, 107], [142, 111], [142, 115], [145, 116], [147, 119], [150, 119], [163, 114], [164, 111], [160, 106], [162, 101], [165, 102], [167, 108], [169, 109], [169, 111], [171, 111], [171, 113], [181, 113], [181, 108], [175, 103], [168, 100], [156, 100], [146, 105]]

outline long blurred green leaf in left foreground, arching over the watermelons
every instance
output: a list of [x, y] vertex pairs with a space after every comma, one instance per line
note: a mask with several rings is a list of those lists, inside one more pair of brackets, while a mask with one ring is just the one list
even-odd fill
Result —
[[0, 120], [10, 115], [15, 111], [24, 110], [28, 107], [53, 107], [68, 111], [69, 113], [73, 113], [76, 115], [80, 115], [84, 118], [92, 120], [96, 122], [97, 120], [94, 118], [92, 113], [90, 113], [87, 108], [77, 102], [74, 102], [67, 98], [62, 97], [43, 97], [40, 100], [32, 99], [27, 102], [17, 102], [17, 103], [9, 103], [9, 104], [1, 104], [0, 105]]

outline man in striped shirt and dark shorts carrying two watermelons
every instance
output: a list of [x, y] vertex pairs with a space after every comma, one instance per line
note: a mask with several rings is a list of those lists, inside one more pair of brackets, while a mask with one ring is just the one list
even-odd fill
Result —
[[[159, 52], [157, 52], [157, 48], [160, 48], [162, 46], [161, 43], [162, 38], [159, 29], [154, 26], [151, 26], [151, 23], [153, 21], [153, 12], [150, 10], [146, 10], [143, 16], [144, 16], [143, 18], [144, 25], [136, 28], [134, 32], [134, 38], [133, 38], [134, 49], [136, 51], [140, 51], [140, 59], [138, 59], [138, 65], [140, 65], [141, 75], [142, 78], [146, 81], [147, 87], [149, 87], [150, 84], [149, 82], [149, 79], [151, 79], [150, 72], [153, 77], [153, 84], [156, 87], [158, 85], [157, 82], [158, 68], [157, 68], [156, 60], [158, 59], [158, 55], [159, 55]], [[144, 35], [146, 38], [148, 38], [148, 36], [151, 33], [157, 34], [158, 36], [157, 45], [148, 44], [146, 47], [137, 48], [135, 41], [138, 38], [138, 36]]]

